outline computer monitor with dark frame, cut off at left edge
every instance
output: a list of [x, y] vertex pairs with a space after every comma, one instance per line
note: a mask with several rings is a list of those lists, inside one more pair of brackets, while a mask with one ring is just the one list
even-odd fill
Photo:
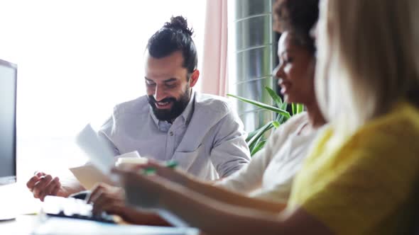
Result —
[[17, 67], [0, 59], [0, 185], [16, 182]]

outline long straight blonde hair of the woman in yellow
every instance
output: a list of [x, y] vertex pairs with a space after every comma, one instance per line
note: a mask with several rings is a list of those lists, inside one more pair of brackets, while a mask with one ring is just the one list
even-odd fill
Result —
[[330, 120], [354, 131], [418, 92], [418, 0], [322, 0], [316, 94]]

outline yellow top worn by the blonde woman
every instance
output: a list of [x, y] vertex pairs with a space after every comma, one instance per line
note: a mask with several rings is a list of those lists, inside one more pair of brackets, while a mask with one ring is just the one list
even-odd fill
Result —
[[291, 208], [303, 207], [337, 234], [412, 229], [419, 212], [419, 110], [413, 105], [399, 103], [348, 137], [328, 127], [310, 153], [295, 178]]

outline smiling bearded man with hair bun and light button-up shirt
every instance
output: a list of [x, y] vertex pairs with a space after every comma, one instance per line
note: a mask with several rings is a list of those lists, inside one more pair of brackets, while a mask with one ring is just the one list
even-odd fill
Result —
[[[193, 31], [183, 16], [170, 18], [148, 40], [145, 53], [146, 96], [116, 105], [99, 130], [115, 155], [138, 151], [157, 161], [173, 160], [178, 168], [202, 180], [217, 180], [250, 161], [239, 116], [224, 98], [194, 91], [200, 71]], [[58, 178], [37, 173], [28, 183], [34, 197], [67, 197], [84, 188], [62, 185]], [[111, 200], [114, 199], [114, 200]], [[91, 201], [95, 212], [126, 212], [122, 192], [98, 185]]]

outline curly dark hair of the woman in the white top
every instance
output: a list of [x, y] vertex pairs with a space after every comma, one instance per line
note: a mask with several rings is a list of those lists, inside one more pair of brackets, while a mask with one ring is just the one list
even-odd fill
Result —
[[295, 34], [300, 45], [315, 52], [310, 30], [319, 18], [319, 0], [277, 0], [273, 5], [273, 29]]

